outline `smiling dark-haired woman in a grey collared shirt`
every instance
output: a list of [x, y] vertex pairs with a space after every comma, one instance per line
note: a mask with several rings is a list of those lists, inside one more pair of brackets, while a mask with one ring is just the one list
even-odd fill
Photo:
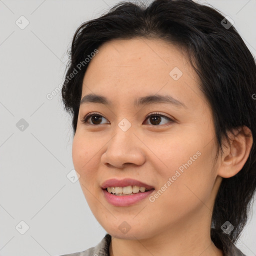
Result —
[[256, 187], [255, 93], [252, 54], [211, 7], [121, 2], [83, 23], [62, 97], [107, 233], [68, 255], [244, 255], [234, 243]]

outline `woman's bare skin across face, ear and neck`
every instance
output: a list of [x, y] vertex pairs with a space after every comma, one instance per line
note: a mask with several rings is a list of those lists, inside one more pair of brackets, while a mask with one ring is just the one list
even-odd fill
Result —
[[[231, 144], [214, 165], [212, 112], [179, 48], [160, 39], [134, 38], [114, 39], [98, 50], [84, 75], [81, 98], [100, 94], [112, 105], [80, 105], [72, 158], [92, 213], [112, 236], [110, 256], [223, 255], [210, 239], [214, 199], [222, 177], [235, 175], [247, 160], [252, 138], [244, 132], [249, 129], [230, 133]], [[183, 73], [177, 80], [169, 75], [174, 67]], [[186, 108], [166, 103], [133, 106], [135, 98], [156, 93], [171, 95]], [[82, 123], [90, 112], [101, 115], [101, 122], [89, 118]], [[154, 112], [173, 121], [158, 117], [156, 125], [146, 118]], [[131, 124], [125, 132], [118, 126], [123, 118]], [[197, 151], [200, 156], [153, 202], [145, 198], [114, 206], [105, 200], [103, 181], [130, 177], [158, 191]], [[118, 228], [123, 221], [130, 226], [126, 233]]]

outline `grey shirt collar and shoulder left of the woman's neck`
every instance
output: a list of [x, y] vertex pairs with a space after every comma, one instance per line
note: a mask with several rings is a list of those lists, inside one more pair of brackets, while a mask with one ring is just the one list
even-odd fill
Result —
[[80, 252], [64, 254], [61, 256], [109, 256], [108, 248], [110, 241], [111, 235], [106, 233], [102, 240], [95, 247], [90, 247]]

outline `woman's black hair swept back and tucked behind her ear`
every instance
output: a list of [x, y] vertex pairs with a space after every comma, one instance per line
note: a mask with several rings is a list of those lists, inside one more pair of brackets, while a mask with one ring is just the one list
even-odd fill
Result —
[[[214, 202], [210, 235], [215, 246], [225, 252], [247, 222], [256, 188], [255, 59], [236, 29], [213, 7], [192, 0], [154, 0], [148, 6], [119, 2], [102, 16], [82, 23], [74, 33], [62, 87], [73, 133], [89, 63], [84, 64], [84, 59], [106, 41], [136, 37], [162, 39], [186, 50], [213, 114], [217, 155], [219, 148], [223, 152], [222, 141], [228, 139], [228, 131], [242, 125], [251, 130], [253, 143], [247, 161], [236, 175], [222, 179]], [[78, 73], [70, 79], [77, 66]], [[228, 234], [221, 229], [226, 220], [234, 226]]]

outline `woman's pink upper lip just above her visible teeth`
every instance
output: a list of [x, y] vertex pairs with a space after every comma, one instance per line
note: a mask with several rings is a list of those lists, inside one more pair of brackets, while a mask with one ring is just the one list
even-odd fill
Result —
[[133, 179], [133, 178], [124, 178], [124, 179], [116, 179], [116, 178], [111, 178], [111, 179], [107, 179], [105, 180], [102, 184], [101, 184], [101, 188], [105, 189], [106, 187], [111, 187], [111, 186], [143, 186], [146, 189], [152, 189], [153, 186], [150, 186], [148, 184], [145, 184], [139, 180]]

